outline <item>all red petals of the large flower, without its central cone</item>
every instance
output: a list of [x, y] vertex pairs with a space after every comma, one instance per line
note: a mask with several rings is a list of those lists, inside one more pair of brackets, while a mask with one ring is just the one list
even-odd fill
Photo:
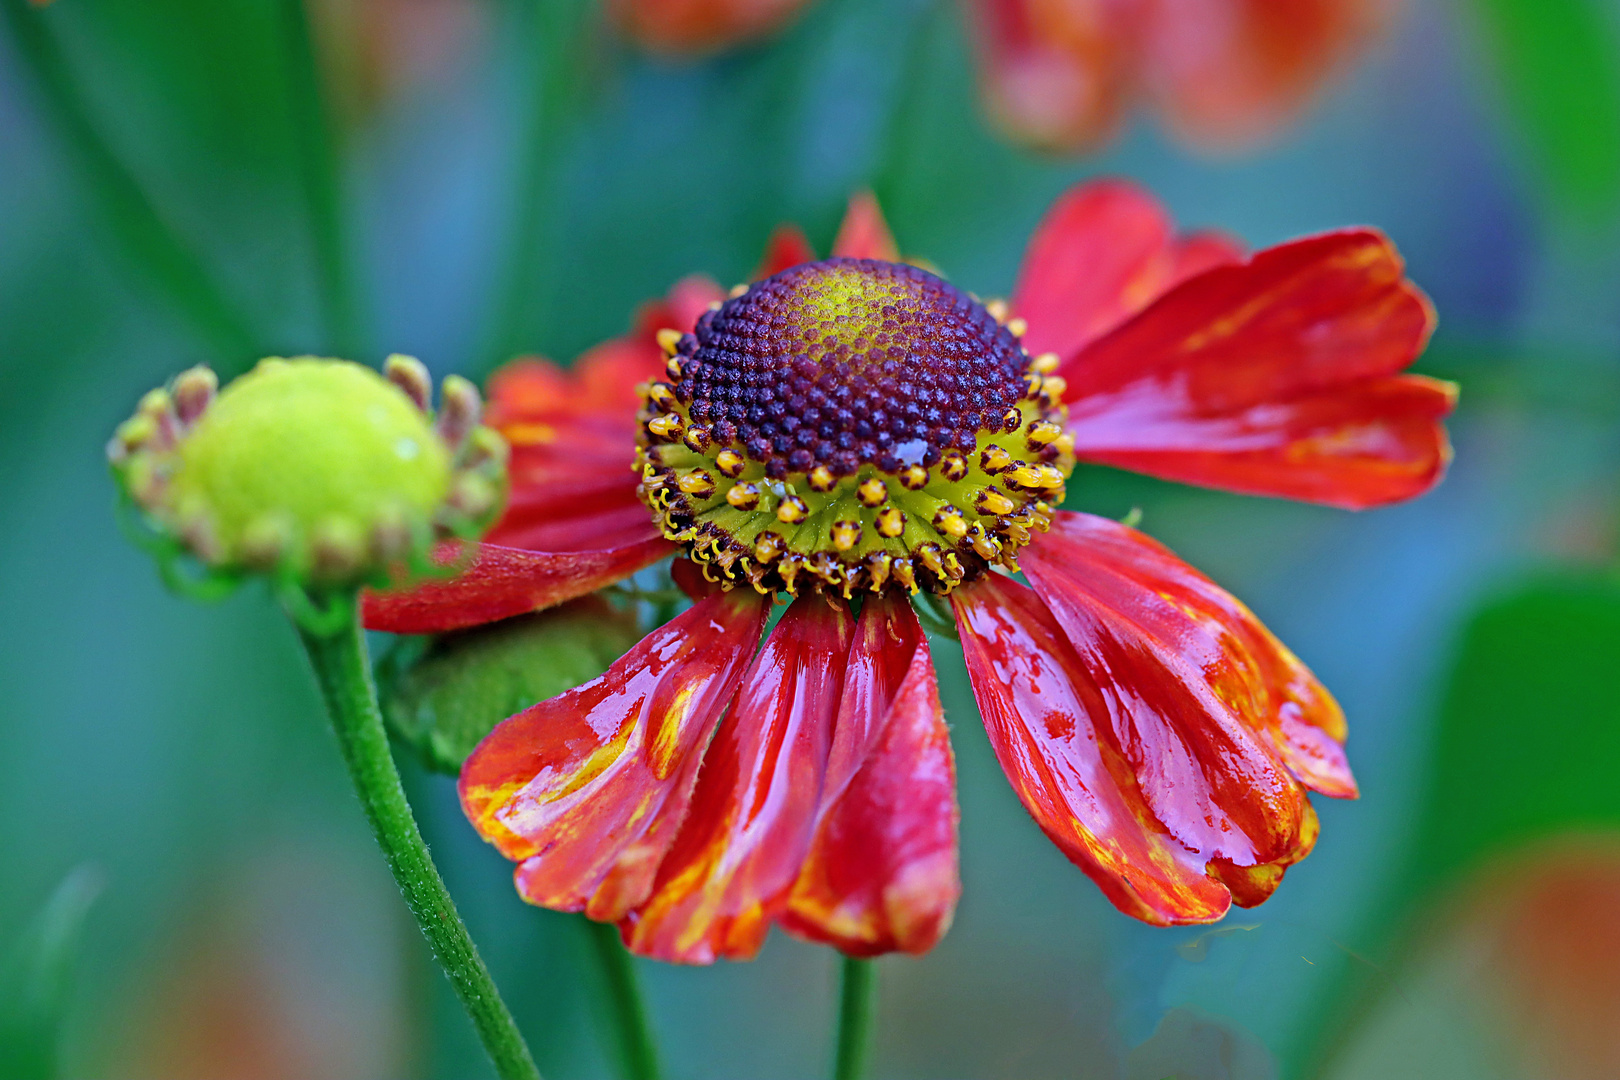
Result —
[[[870, 196], [834, 256], [896, 257]], [[784, 228], [761, 274], [812, 257]], [[475, 625], [674, 554], [637, 494], [630, 387], [664, 371], [658, 330], [667, 343], [721, 298], [687, 279], [575, 371], [499, 372], [505, 518], [457, 580], [371, 596], [368, 625]], [[1434, 314], [1374, 230], [1246, 256], [1178, 235], [1134, 186], [1090, 183], [1042, 222], [1004, 317], [1051, 355], [1040, 369], [1055, 368], [1082, 461], [1349, 508], [1422, 494], [1445, 470], [1455, 390], [1403, 374]], [[1315, 842], [1306, 792], [1356, 795], [1336, 703], [1239, 601], [1132, 528], [1055, 510], [1019, 560], [1034, 589], [988, 572], [949, 601], [1024, 806], [1136, 918], [1262, 902]], [[927, 950], [959, 894], [957, 811], [904, 591], [873, 586], [859, 615], [807, 591], [760, 648], [770, 596], [676, 567], [692, 609], [497, 727], [462, 772], [468, 818], [518, 863], [525, 899], [617, 921], [643, 955], [752, 957], [771, 923], [855, 955]]]

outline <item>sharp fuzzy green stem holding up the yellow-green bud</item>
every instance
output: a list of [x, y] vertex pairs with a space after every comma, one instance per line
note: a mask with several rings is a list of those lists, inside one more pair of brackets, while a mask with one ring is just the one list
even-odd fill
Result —
[[298, 635], [321, 683], [332, 730], [337, 732], [339, 748], [355, 780], [355, 793], [371, 819], [371, 831], [394, 871], [394, 881], [405, 894], [405, 904], [471, 1017], [478, 1038], [496, 1064], [496, 1074], [501, 1080], [539, 1080], [535, 1059], [457, 915], [455, 902], [450, 900], [416, 829], [410, 803], [405, 801], [371, 685], [358, 602], [350, 597], [348, 604], [350, 619], [343, 630], [322, 636], [300, 627]]

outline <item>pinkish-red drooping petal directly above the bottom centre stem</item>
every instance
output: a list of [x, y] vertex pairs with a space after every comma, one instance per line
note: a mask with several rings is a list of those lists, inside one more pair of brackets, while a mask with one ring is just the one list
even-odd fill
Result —
[[781, 923], [852, 955], [932, 949], [951, 926], [956, 767], [928, 643], [902, 596], [867, 599], [823, 818]]

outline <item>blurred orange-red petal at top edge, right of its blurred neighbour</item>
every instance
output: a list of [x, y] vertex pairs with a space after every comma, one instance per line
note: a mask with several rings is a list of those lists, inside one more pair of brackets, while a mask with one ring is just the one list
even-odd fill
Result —
[[1144, 81], [1170, 126], [1243, 146], [1288, 123], [1380, 28], [1390, 0], [1158, 0]]

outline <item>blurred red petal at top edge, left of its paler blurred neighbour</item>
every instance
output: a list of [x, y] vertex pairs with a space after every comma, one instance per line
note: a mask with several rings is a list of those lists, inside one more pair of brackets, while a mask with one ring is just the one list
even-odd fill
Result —
[[998, 126], [1047, 151], [1108, 139], [1136, 83], [1139, 6], [969, 0], [980, 81]]

